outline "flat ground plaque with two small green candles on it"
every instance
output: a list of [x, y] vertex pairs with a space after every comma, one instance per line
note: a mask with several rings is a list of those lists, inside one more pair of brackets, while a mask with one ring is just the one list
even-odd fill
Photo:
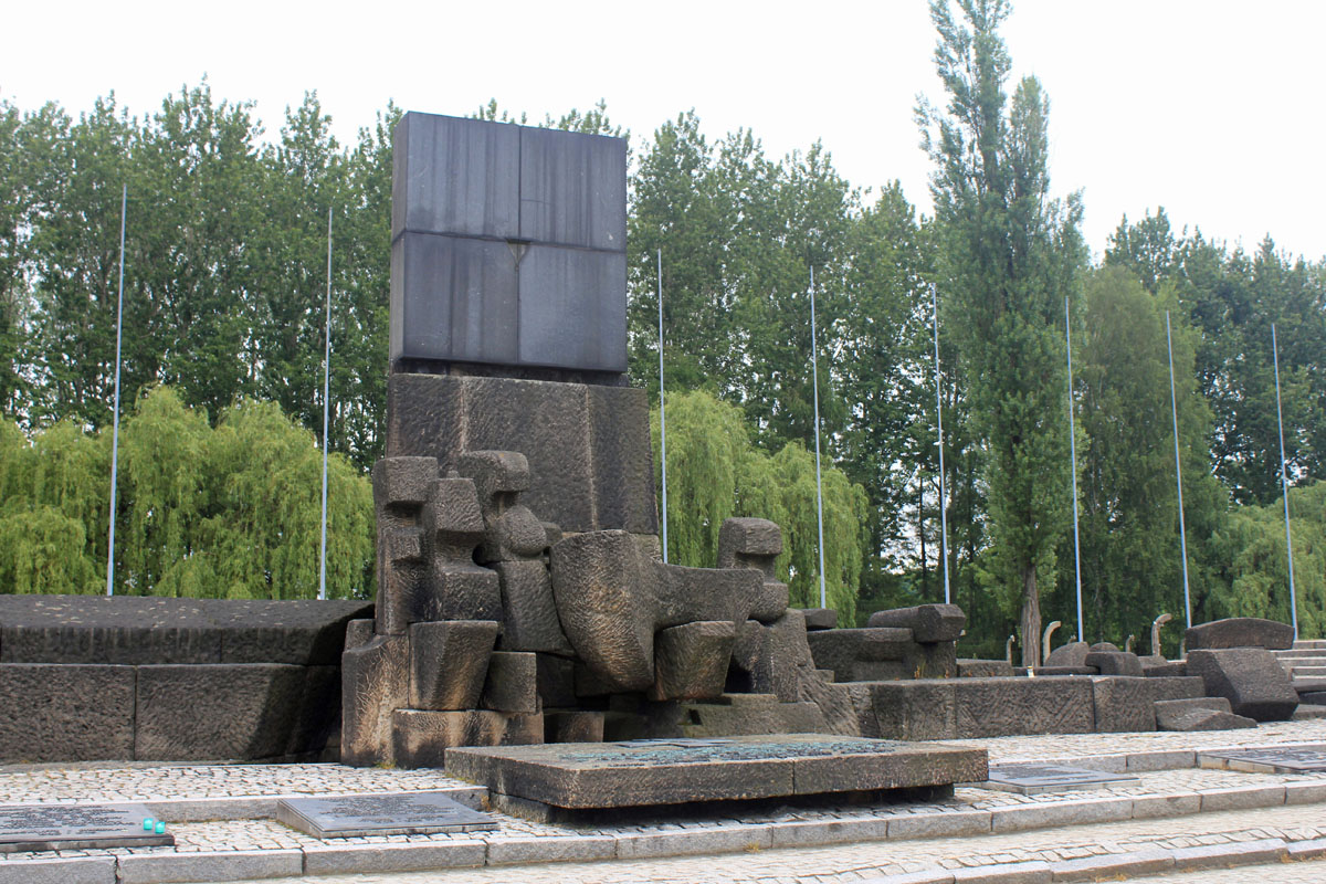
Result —
[[149, 816], [142, 804], [0, 806], [0, 854], [174, 844], [170, 832], [143, 828]]

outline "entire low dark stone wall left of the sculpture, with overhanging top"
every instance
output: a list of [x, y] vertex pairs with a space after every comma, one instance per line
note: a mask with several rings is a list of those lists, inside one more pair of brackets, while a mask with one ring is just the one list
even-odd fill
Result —
[[335, 755], [365, 602], [0, 596], [0, 761]]

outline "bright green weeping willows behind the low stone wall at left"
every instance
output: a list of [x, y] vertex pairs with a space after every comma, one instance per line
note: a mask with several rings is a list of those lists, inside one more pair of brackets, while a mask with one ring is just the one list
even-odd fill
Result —
[[[121, 421], [115, 592], [314, 598], [322, 457], [273, 403], [228, 408], [216, 429], [170, 387]], [[373, 492], [333, 453], [328, 595], [373, 595]], [[0, 587], [105, 591], [110, 431], [69, 421], [29, 444], [0, 421]]]

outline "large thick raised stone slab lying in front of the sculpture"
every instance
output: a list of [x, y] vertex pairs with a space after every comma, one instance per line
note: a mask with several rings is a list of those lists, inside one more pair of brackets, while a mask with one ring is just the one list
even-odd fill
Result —
[[447, 750], [447, 773], [495, 793], [591, 810], [951, 786], [987, 775], [984, 749], [773, 734]]

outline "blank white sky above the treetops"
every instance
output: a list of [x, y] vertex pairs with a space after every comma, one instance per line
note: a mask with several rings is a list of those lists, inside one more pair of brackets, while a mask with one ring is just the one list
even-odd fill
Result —
[[[928, 209], [918, 93], [943, 101], [924, 0], [784, 4], [564, 0], [431, 4], [11, 3], [0, 95], [81, 111], [115, 90], [152, 111], [206, 73], [274, 133], [317, 89], [341, 139], [389, 98], [533, 119], [599, 98], [636, 138], [695, 107], [711, 139], [745, 126], [774, 156], [822, 139], [858, 186], [900, 179]], [[1326, 115], [1314, 0], [1016, 0], [1014, 74], [1050, 97], [1052, 186], [1085, 191], [1094, 253], [1124, 212], [1326, 256]]]

